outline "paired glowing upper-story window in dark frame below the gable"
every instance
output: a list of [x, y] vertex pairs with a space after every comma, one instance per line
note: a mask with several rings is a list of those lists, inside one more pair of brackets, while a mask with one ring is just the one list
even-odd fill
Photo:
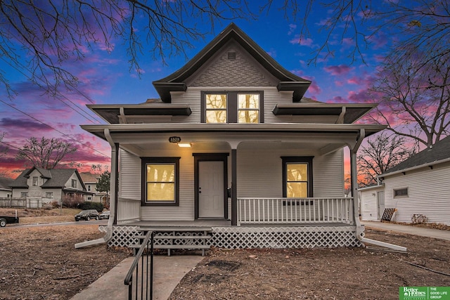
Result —
[[202, 123], [263, 123], [262, 91], [202, 92]]

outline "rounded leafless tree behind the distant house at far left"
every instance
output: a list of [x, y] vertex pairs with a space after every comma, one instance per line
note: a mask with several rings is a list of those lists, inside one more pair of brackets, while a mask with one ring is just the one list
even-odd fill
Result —
[[68, 154], [77, 151], [70, 143], [58, 138], [28, 138], [23, 148], [18, 150], [16, 159], [27, 159], [34, 167], [54, 169]]

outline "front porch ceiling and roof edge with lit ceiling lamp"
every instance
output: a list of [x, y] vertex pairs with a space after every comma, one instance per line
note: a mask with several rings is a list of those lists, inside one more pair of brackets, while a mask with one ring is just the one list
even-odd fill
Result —
[[113, 124], [86, 125], [83, 129], [105, 138], [109, 131], [115, 143], [136, 155], [149, 149], [179, 151], [169, 137], [191, 143], [192, 151], [290, 148], [325, 155], [356, 143], [360, 130], [370, 136], [383, 125], [361, 124]]

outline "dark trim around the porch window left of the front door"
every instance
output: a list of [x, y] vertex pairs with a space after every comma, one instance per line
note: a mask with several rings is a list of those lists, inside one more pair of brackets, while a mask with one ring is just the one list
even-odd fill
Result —
[[[141, 206], [143, 207], [178, 207], [180, 185], [180, 161], [181, 157], [141, 157]], [[147, 164], [175, 164], [175, 199], [173, 202], [147, 202]]]

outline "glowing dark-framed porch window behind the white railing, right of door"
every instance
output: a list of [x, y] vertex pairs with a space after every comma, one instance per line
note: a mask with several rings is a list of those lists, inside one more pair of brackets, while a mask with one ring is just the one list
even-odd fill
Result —
[[312, 157], [281, 157], [283, 197], [313, 197]]

